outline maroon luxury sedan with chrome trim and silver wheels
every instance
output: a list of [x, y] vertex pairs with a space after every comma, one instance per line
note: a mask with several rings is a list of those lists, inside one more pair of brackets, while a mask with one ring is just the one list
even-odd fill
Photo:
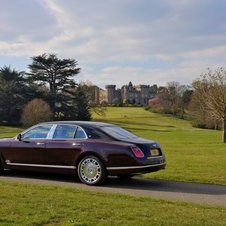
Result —
[[103, 122], [45, 122], [0, 139], [0, 173], [69, 173], [87, 185], [100, 185], [108, 176], [129, 178], [165, 166], [159, 143]]

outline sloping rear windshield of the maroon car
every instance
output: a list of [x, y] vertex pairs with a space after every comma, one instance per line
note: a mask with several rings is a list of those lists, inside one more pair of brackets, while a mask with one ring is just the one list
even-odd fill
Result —
[[117, 126], [104, 126], [101, 129], [116, 139], [134, 139], [137, 138], [133, 133]]

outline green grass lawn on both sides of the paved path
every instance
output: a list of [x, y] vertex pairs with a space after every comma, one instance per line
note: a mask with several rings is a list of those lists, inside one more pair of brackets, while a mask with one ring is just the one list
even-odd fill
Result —
[[[194, 129], [186, 121], [142, 108], [108, 108], [105, 117], [94, 119], [162, 144], [167, 169], [145, 177], [226, 184], [226, 145], [220, 142], [219, 131]], [[0, 137], [20, 131], [0, 127]], [[0, 225], [226, 225], [226, 208], [0, 181]]]

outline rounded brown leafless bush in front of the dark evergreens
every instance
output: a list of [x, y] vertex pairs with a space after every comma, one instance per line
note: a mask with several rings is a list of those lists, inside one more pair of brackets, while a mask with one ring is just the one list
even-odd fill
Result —
[[24, 126], [52, 120], [53, 113], [50, 106], [42, 99], [33, 99], [28, 102], [22, 113], [22, 123]]

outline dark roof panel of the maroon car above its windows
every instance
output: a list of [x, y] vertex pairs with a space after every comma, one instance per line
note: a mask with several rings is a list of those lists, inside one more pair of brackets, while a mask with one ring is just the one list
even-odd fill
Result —
[[53, 122], [44, 122], [40, 124], [69, 124], [69, 125], [88, 126], [88, 127], [115, 126], [110, 123], [96, 122], [96, 121], [53, 121]]

